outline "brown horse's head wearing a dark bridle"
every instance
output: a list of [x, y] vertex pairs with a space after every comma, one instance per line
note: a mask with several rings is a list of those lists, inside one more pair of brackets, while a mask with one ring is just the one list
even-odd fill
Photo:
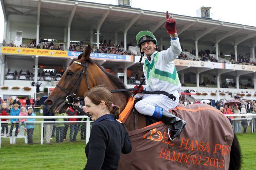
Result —
[[67, 96], [82, 97], [85, 92], [95, 86], [94, 78], [90, 72], [93, 72], [93, 67], [90, 63], [91, 47], [88, 45], [86, 50], [78, 56], [78, 60], [72, 62], [66, 69], [62, 78], [54, 88], [50, 96], [44, 102], [48, 109], [52, 112], [59, 111], [63, 113], [66, 111], [68, 104], [65, 102]]

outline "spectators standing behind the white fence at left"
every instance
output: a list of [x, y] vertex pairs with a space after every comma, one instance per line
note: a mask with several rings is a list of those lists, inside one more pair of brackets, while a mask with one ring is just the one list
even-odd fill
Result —
[[[29, 101], [29, 102], [27, 102]], [[84, 107], [84, 101], [80, 101], [76, 103], [76, 105], [80, 108]], [[31, 97], [31, 99], [26, 98], [26, 105], [20, 103], [19, 99], [13, 99], [12, 96], [2, 100], [0, 97], [0, 115], [12, 115], [12, 116], [21, 116], [21, 115], [32, 115], [36, 116], [40, 114], [39, 109], [36, 106], [41, 106], [40, 98], [38, 97], [36, 101]], [[84, 109], [84, 108], [83, 108]], [[21, 112], [22, 111], [22, 112]], [[46, 106], [43, 106], [43, 115], [54, 115], [54, 113], [50, 112]], [[58, 118], [57, 116], [70, 116], [68, 119]], [[76, 123], [76, 121], [84, 121], [85, 119], [77, 119], [73, 118], [74, 115], [83, 115], [79, 111], [76, 111], [69, 107], [66, 109], [64, 113], [56, 113], [57, 121], [73, 121], [71, 123], [44, 123], [44, 140], [45, 143], [51, 143], [51, 139], [56, 137], [56, 143], [62, 143], [63, 141], [68, 139], [67, 133], [70, 128], [69, 140], [70, 142], [75, 142], [77, 140], [78, 132], [80, 131], [81, 141], [86, 139], [86, 123]], [[34, 123], [30, 123], [30, 121], [35, 121], [35, 119], [2, 119], [2, 121], [9, 121], [11, 124], [11, 128], [9, 129], [8, 123], [1, 124], [1, 136], [9, 137], [13, 135], [13, 129], [15, 126], [15, 136], [18, 136], [20, 133], [20, 125], [21, 122], [24, 122], [24, 129], [27, 133], [28, 144], [33, 144], [33, 132], [35, 129]], [[55, 121], [55, 119], [44, 119], [44, 121]], [[39, 126], [37, 126], [39, 128]], [[9, 131], [10, 130], [10, 131]], [[21, 134], [23, 135], [23, 134]]]

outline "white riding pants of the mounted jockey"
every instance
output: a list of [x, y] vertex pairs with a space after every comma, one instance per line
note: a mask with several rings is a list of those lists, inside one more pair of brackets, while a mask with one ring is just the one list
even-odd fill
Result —
[[[135, 104], [138, 112], [144, 115], [152, 116], [155, 111], [155, 106], [162, 107], [165, 110], [174, 109], [179, 102], [179, 98], [175, 101], [163, 94], [136, 94], [136, 98], [142, 98]], [[171, 114], [171, 113], [170, 113]]]

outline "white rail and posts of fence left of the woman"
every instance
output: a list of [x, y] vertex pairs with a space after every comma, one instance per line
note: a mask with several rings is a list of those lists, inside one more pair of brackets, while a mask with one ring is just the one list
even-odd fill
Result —
[[[86, 143], [89, 141], [91, 126], [90, 118], [88, 116], [0, 116], [1, 123], [11, 123], [10, 121], [1, 121], [1, 119], [70, 119], [70, 118], [86, 118]], [[41, 123], [41, 129], [44, 129], [44, 123], [84, 123], [85, 121], [28, 121], [29, 123]], [[41, 145], [44, 143], [43, 130], [41, 130]], [[0, 148], [1, 148], [1, 136], [0, 136]]]

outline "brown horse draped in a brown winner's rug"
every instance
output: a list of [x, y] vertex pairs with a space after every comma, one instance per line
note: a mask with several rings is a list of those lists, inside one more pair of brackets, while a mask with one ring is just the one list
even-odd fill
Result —
[[[104, 85], [110, 90], [126, 88], [118, 77], [106, 72], [90, 59], [90, 53], [91, 47], [88, 45], [78, 59], [70, 63], [45, 101], [50, 111], [65, 111], [68, 107], [65, 102], [67, 96], [77, 99], [94, 86]], [[121, 111], [127, 111], [126, 104], [130, 102], [132, 93], [125, 91], [112, 95], [113, 103], [120, 106]], [[174, 141], [169, 141], [168, 136], [166, 137], [169, 133], [166, 133], [168, 129], [164, 123], [156, 122], [147, 126], [145, 115], [132, 108], [128, 110], [123, 123], [133, 149], [130, 154], [121, 156], [118, 169], [240, 169], [238, 139], [229, 120], [214, 107], [190, 104], [186, 107], [178, 105], [170, 110], [187, 122]], [[149, 155], [153, 152], [156, 154]], [[158, 162], [152, 164], [154, 161]], [[160, 167], [159, 162], [165, 166]]]

